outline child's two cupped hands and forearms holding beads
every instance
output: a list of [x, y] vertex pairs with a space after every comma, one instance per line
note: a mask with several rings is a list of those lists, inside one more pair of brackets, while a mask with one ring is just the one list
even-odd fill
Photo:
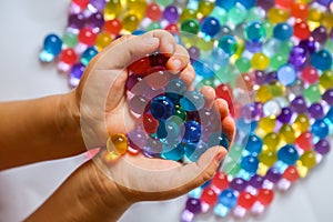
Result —
[[[125, 102], [129, 71], [124, 68], [155, 51], [170, 57], [168, 69], [180, 73], [192, 89], [194, 71], [189, 54], [170, 33], [155, 30], [125, 36], [90, 62], [75, 90], [0, 104], [0, 170], [82, 153], [104, 145], [109, 135], [131, 130], [134, 118]], [[202, 93], [206, 107], [219, 111], [223, 131], [232, 141], [234, 123], [226, 102], [215, 100], [212, 88], [204, 87]], [[27, 221], [117, 221], [135, 202], [172, 199], [201, 185], [211, 179], [225, 154], [224, 148], [214, 147], [196, 163], [182, 165], [141, 154], [124, 154], [110, 162], [102, 150], [94, 161], [77, 169]]]

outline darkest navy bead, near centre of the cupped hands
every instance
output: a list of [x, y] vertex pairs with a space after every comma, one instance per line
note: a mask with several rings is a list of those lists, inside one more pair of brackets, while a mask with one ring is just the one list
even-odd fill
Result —
[[159, 95], [152, 100], [150, 112], [157, 120], [167, 120], [173, 115], [174, 104], [165, 95]]

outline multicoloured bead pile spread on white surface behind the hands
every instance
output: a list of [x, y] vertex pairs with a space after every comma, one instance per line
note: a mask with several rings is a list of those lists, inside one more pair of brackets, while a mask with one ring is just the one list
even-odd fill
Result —
[[274, 190], [306, 176], [331, 149], [332, 9], [331, 0], [73, 0], [62, 43], [51, 36], [41, 59], [61, 54], [74, 87], [118, 36], [172, 31], [198, 89], [215, 88], [238, 129], [222, 172], [189, 194], [182, 220], [210, 210], [242, 218], [262, 212]]

